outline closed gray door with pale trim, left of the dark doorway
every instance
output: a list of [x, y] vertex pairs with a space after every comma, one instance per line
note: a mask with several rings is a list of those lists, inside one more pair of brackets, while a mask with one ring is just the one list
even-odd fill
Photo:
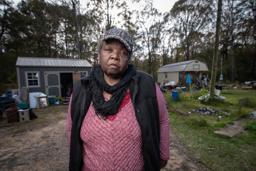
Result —
[[46, 94], [59, 97], [61, 95], [60, 73], [45, 72], [44, 80], [46, 86]]

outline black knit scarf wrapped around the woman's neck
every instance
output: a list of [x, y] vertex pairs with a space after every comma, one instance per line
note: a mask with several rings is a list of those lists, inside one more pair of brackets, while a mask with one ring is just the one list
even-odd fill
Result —
[[[121, 80], [117, 84], [110, 86], [104, 80], [103, 71], [100, 65], [97, 65], [91, 71], [89, 81], [91, 86], [92, 102], [95, 114], [98, 115], [98, 117], [102, 117], [106, 120], [109, 115], [115, 115], [117, 113], [128, 88], [130, 79], [135, 76], [135, 74], [136, 67], [132, 64], [128, 64]], [[104, 91], [112, 94], [110, 100], [104, 100]]]

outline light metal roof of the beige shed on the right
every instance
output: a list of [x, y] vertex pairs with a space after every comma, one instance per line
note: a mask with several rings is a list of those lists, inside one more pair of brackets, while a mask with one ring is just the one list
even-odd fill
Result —
[[[184, 62], [164, 65], [164, 66], [160, 67], [157, 72], [160, 73], [160, 72], [180, 72], [180, 71], [184, 71], [189, 63], [193, 63], [195, 61], [198, 61], [198, 60], [184, 61]], [[201, 61], [199, 61], [199, 62], [203, 63]], [[205, 64], [205, 63], [203, 63], [203, 64]]]

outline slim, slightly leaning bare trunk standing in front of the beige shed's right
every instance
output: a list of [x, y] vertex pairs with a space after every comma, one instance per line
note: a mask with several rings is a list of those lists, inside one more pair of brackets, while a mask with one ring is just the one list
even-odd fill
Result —
[[211, 84], [210, 84], [211, 97], [214, 97], [215, 81], [216, 81], [216, 74], [217, 74], [217, 63], [218, 63], [218, 52], [219, 52], [219, 32], [220, 32], [220, 24], [221, 24], [221, 5], [222, 5], [222, 0], [218, 0], [215, 47], [214, 47], [214, 53], [213, 53], [213, 67], [212, 67], [212, 76], [211, 76]]

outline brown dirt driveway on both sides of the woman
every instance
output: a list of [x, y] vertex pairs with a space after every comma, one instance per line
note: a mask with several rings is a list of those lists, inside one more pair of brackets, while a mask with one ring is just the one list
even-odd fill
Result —
[[[37, 119], [27, 123], [0, 120], [1, 171], [68, 170], [66, 118], [67, 106], [35, 109]], [[170, 160], [164, 171], [207, 170], [190, 160], [187, 149], [170, 131]]]

